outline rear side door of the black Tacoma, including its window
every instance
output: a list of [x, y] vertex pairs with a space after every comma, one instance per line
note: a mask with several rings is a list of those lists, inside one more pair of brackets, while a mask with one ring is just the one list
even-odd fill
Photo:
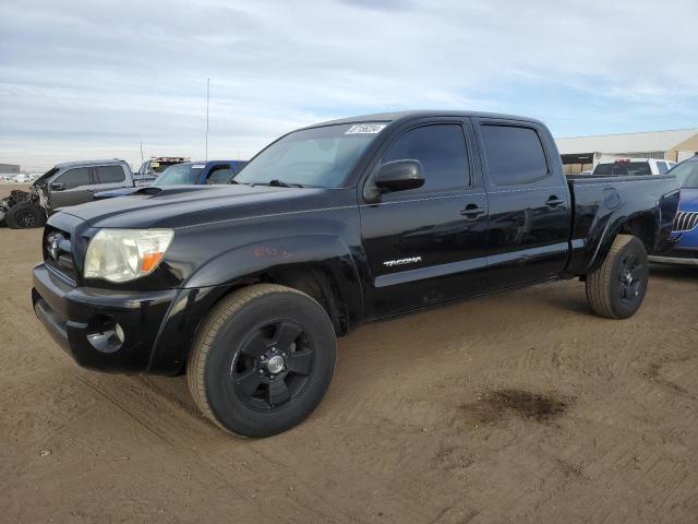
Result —
[[557, 275], [567, 263], [571, 204], [550, 134], [533, 122], [473, 121], [490, 206], [489, 288]]

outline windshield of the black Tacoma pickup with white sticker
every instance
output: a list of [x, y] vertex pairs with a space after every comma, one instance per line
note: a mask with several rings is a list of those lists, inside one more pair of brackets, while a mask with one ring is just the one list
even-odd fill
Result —
[[385, 126], [347, 123], [296, 131], [250, 160], [234, 181], [337, 188]]

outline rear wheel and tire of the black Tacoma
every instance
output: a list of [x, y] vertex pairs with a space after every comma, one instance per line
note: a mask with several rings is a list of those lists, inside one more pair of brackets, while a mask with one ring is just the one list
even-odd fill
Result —
[[599, 317], [627, 319], [642, 305], [648, 281], [645, 245], [633, 235], [618, 235], [601, 266], [587, 276], [587, 301]]

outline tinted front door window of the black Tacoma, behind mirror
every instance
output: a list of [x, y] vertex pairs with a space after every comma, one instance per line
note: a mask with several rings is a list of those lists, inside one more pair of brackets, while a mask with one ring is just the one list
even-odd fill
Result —
[[422, 164], [422, 191], [470, 186], [468, 153], [462, 129], [457, 124], [425, 126], [398, 138], [383, 156], [383, 163], [419, 160]]

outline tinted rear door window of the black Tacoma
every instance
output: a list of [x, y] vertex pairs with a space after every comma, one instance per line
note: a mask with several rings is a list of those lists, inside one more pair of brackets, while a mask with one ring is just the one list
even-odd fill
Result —
[[547, 160], [535, 130], [514, 126], [481, 129], [488, 171], [494, 186], [530, 183], [547, 176]]

